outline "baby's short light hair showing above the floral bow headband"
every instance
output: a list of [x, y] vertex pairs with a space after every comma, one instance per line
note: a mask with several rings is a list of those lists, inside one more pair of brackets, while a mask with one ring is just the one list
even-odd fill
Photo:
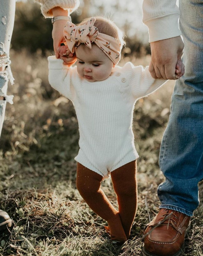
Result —
[[[94, 17], [96, 19], [94, 26], [98, 29], [99, 33], [110, 35], [118, 39], [121, 43], [121, 46], [125, 45], [125, 41], [123, 39], [125, 35], [123, 31], [119, 29], [112, 20], [101, 17], [101, 16], [94, 16]], [[80, 25], [87, 24], [87, 21], [90, 19], [91, 18], [83, 19], [83, 21], [77, 25], [80, 26]]]

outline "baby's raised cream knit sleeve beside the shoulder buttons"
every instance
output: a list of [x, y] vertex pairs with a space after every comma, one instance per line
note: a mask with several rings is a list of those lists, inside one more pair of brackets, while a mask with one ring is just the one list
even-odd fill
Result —
[[134, 66], [131, 62], [127, 62], [122, 70], [125, 72], [129, 80], [129, 94], [134, 100], [148, 96], [161, 87], [167, 80], [154, 79], [149, 67]]

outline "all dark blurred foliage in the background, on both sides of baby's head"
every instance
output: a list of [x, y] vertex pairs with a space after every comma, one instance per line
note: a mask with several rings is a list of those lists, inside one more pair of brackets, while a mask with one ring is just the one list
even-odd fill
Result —
[[[86, 8], [83, 8], [81, 13], [74, 12], [71, 14], [73, 23], [80, 23], [82, 19], [90, 16], [88, 13], [88, 4], [85, 4]], [[98, 9], [98, 12], [100, 11], [102, 9]], [[123, 30], [125, 33], [127, 33], [128, 29], [128, 25], [124, 24]], [[27, 3], [16, 3], [15, 24], [11, 40], [12, 48], [15, 51], [25, 48], [29, 52], [34, 53], [38, 49], [41, 49], [42, 54], [45, 55], [47, 50], [53, 50], [51, 33], [51, 20], [44, 19], [39, 4], [34, 3], [32, 0], [29, 0]], [[123, 49], [125, 56], [133, 53], [137, 57], [142, 57], [150, 53], [149, 45], [143, 45], [142, 41], [136, 36], [133, 36], [133, 38], [126, 37], [125, 40], [127, 49]]]

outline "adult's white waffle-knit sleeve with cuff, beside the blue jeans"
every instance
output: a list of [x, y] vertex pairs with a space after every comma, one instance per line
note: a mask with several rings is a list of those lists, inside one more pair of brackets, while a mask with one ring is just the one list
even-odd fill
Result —
[[143, 0], [143, 23], [148, 26], [149, 42], [181, 35], [179, 15], [176, 0]]

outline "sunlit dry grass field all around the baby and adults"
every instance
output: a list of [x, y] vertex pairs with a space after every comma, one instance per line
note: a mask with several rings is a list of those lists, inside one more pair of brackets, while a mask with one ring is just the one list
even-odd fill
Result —
[[[164, 181], [158, 156], [169, 118], [174, 82], [168, 82], [134, 110], [133, 131], [138, 159], [138, 211], [130, 240], [120, 246], [109, 240], [106, 221], [91, 211], [76, 186], [78, 124], [70, 101], [48, 83], [46, 58], [11, 52], [15, 84], [9, 86], [14, 104], [7, 105], [0, 150], [0, 208], [14, 227], [1, 234], [0, 255], [113, 256], [120, 255], [143, 236], [145, 225], [159, 210], [157, 186]], [[131, 60], [147, 65], [150, 57]], [[122, 61], [123, 62], [123, 61]], [[121, 63], [122, 65], [123, 63]], [[117, 207], [111, 180], [102, 189]], [[203, 186], [200, 184], [200, 200]], [[203, 255], [203, 205], [192, 218], [185, 255]], [[129, 256], [140, 255], [138, 243]]]

